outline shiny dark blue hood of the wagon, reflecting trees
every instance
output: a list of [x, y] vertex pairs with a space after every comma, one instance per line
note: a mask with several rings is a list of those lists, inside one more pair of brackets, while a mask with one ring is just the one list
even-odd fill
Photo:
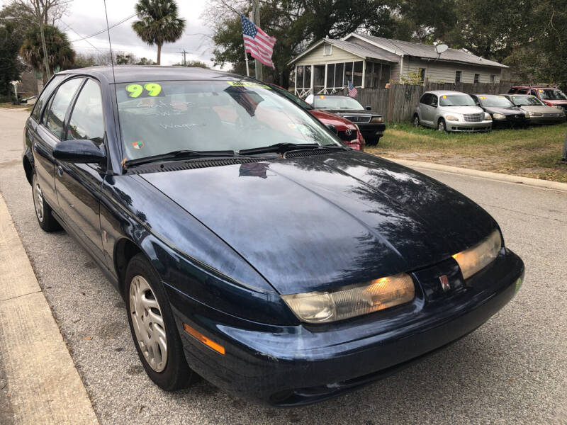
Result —
[[354, 151], [142, 178], [232, 246], [281, 294], [422, 268], [497, 227], [487, 212], [442, 183]]

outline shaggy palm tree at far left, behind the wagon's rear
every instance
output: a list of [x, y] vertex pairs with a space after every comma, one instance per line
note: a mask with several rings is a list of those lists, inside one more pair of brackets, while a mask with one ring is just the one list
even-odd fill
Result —
[[[47, 63], [50, 69], [67, 69], [71, 67], [75, 59], [75, 51], [71, 47], [67, 35], [62, 33], [57, 27], [43, 26], [45, 44], [47, 45]], [[30, 67], [36, 71], [41, 71], [43, 64], [43, 45], [39, 26], [31, 27], [23, 39], [20, 47], [20, 55]], [[44, 80], [47, 78], [44, 75]]]

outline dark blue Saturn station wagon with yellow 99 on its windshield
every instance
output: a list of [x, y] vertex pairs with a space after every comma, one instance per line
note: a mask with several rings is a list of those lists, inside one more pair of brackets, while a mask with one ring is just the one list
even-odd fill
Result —
[[285, 96], [185, 67], [56, 74], [24, 131], [38, 222], [123, 295], [164, 390], [290, 406], [465, 336], [522, 283], [498, 224]]

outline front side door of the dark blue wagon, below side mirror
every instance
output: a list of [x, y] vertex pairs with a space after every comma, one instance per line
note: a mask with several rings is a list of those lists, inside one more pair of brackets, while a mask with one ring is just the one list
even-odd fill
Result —
[[[63, 140], [89, 139], [106, 150], [99, 83], [86, 79], [69, 109]], [[91, 254], [103, 262], [99, 200], [106, 164], [56, 161], [55, 167], [55, 190], [64, 220], [86, 242]]]

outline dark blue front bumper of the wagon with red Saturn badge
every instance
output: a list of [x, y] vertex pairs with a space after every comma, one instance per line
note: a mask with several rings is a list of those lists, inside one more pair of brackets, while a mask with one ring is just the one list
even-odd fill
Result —
[[[451, 284], [446, 293], [441, 274]], [[412, 275], [418, 282], [413, 302], [318, 326], [249, 322], [166, 288], [187, 362], [196, 373], [237, 397], [293, 406], [383, 378], [465, 336], [512, 299], [524, 265], [503, 249], [466, 282], [453, 259]], [[183, 323], [224, 346], [225, 355], [186, 334]]]

